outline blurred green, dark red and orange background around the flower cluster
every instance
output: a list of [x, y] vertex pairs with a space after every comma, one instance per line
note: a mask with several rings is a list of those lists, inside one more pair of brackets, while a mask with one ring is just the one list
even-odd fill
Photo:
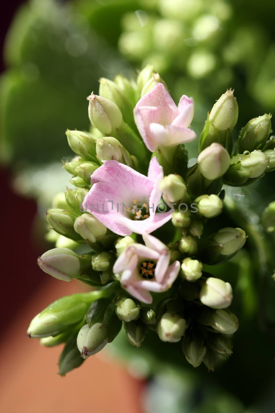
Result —
[[[108, 354], [89, 358], [61, 378], [56, 374], [60, 346], [42, 348], [25, 335], [41, 309], [85, 288], [49, 279], [36, 259], [52, 248], [44, 222], [52, 196], [71, 185], [61, 168], [62, 158], [73, 156], [65, 131], [89, 128], [86, 96], [97, 93], [98, 79], [118, 72], [131, 78], [152, 63], [176, 102], [183, 93], [193, 96], [197, 135], [215, 100], [235, 88], [239, 131], [249, 119], [275, 112], [274, 17], [275, 4], [268, 0], [5, 2], [0, 17], [3, 411], [275, 411], [275, 340], [268, 328], [275, 321], [274, 290], [259, 282], [253, 246], [224, 268], [235, 282], [234, 312], [241, 328], [233, 356], [215, 373], [186, 366], [183, 354], [171, 354], [164, 344], [151, 340], [135, 353], [118, 337]], [[196, 157], [197, 141], [188, 149]], [[245, 197], [240, 188], [234, 191], [240, 209], [253, 209], [257, 222], [275, 199], [273, 174], [261, 186], [251, 185]], [[274, 251], [274, 239], [268, 242]], [[259, 306], [265, 313], [260, 322]]]

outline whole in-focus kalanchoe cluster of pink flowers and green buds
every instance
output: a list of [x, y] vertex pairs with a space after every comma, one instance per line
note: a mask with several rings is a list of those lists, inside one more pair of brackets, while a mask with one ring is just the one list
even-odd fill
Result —
[[[45, 346], [65, 343], [61, 375], [112, 342], [122, 324], [133, 346], [150, 331], [167, 345], [182, 342], [188, 363], [214, 371], [215, 358], [232, 353], [228, 335], [238, 320], [228, 310], [230, 280], [209, 268], [235, 256], [247, 237], [216, 218], [228, 207], [222, 188], [274, 169], [271, 116], [249, 121], [234, 149], [238, 106], [228, 90], [208, 114], [197, 163], [188, 168], [193, 99], [183, 95], [177, 107], [151, 66], [136, 82], [101, 79], [99, 96], [88, 100], [90, 130], [66, 132], [76, 157], [64, 167], [76, 188], [57, 194], [47, 211], [56, 248], [38, 265], [96, 291], [52, 303], [33, 318], [28, 337]], [[272, 203], [262, 218], [269, 232], [273, 210]]]

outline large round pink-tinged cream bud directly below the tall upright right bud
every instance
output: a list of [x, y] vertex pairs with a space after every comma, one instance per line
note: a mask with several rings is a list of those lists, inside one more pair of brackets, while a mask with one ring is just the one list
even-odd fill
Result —
[[212, 143], [200, 152], [197, 164], [205, 178], [214, 180], [226, 173], [230, 165], [230, 156], [222, 145]]

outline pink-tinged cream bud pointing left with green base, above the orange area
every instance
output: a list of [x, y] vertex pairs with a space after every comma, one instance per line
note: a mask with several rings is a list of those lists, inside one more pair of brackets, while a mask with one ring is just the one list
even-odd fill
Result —
[[58, 280], [71, 281], [91, 265], [91, 257], [78, 255], [68, 248], [54, 248], [38, 257], [41, 270]]

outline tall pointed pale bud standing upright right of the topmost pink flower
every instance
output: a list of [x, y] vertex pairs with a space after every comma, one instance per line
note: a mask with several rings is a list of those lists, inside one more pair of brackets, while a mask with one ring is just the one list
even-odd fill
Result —
[[238, 119], [238, 104], [233, 90], [227, 90], [214, 104], [209, 114], [209, 122], [219, 131], [233, 130]]

